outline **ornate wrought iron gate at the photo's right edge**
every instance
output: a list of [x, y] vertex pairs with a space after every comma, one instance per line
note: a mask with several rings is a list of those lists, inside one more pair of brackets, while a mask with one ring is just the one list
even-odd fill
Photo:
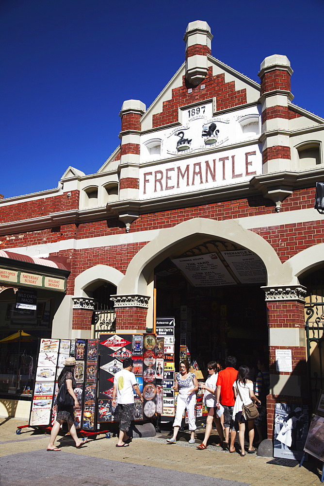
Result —
[[[324, 301], [312, 301], [305, 304], [305, 323], [307, 338], [308, 378], [313, 409], [317, 403], [320, 390], [324, 389]], [[316, 298], [317, 300], [317, 298]]]

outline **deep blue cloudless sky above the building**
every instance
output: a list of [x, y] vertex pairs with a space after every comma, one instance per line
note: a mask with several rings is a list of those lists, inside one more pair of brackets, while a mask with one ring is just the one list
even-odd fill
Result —
[[293, 102], [324, 117], [323, 0], [2, 0], [0, 193], [57, 187], [69, 165], [96, 173], [123, 101], [154, 101], [197, 19], [212, 55], [255, 81], [266, 56], [287, 55]]

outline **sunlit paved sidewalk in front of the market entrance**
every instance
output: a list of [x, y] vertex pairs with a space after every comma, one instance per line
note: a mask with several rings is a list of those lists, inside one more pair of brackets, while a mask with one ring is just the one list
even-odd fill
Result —
[[[2, 422], [2, 423], [1, 423]], [[26, 422], [25, 422], [26, 423]], [[118, 449], [117, 439], [99, 435], [81, 449], [69, 435], [58, 436], [61, 452], [47, 452], [49, 435], [23, 429], [16, 435], [17, 419], [0, 419], [1, 486], [320, 486], [314, 462], [298, 468], [296, 461], [240, 457], [219, 447], [198, 451], [181, 434], [175, 445], [165, 434], [133, 439], [130, 447]], [[204, 431], [197, 432], [198, 439]], [[215, 436], [216, 437], [216, 436]], [[211, 437], [211, 443], [213, 437]]]

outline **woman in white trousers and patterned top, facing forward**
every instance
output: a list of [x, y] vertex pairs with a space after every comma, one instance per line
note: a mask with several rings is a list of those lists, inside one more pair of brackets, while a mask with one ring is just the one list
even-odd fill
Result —
[[171, 439], [166, 439], [169, 444], [177, 442], [177, 435], [179, 427], [181, 427], [182, 415], [187, 409], [189, 430], [191, 437], [190, 444], [194, 444], [194, 431], [196, 430], [196, 423], [194, 420], [194, 406], [196, 404], [196, 390], [198, 390], [198, 382], [194, 373], [190, 373], [190, 364], [186, 360], [180, 361], [180, 373], [176, 373], [175, 384], [172, 387], [178, 391], [176, 417], [173, 422], [173, 436]]

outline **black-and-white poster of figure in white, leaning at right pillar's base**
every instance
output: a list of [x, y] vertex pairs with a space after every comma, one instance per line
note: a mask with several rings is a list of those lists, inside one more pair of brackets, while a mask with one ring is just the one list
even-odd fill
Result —
[[275, 404], [274, 457], [303, 457], [308, 433], [308, 406]]

